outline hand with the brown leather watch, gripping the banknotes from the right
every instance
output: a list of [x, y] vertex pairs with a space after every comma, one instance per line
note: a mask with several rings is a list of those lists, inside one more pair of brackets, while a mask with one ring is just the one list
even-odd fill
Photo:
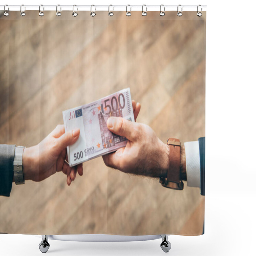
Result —
[[[139, 111], [136, 111], [136, 118]], [[134, 114], [135, 117], [135, 114]], [[102, 156], [104, 163], [126, 173], [151, 177], [166, 175], [169, 147], [146, 124], [134, 123], [122, 117], [109, 117], [108, 129], [128, 139], [124, 148]]]

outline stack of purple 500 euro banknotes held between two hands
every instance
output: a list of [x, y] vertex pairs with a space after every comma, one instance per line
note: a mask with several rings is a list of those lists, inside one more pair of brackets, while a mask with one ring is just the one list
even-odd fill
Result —
[[110, 116], [134, 122], [130, 88], [77, 108], [62, 112], [65, 132], [80, 129], [76, 143], [67, 147], [69, 166], [125, 147], [127, 139], [108, 130]]

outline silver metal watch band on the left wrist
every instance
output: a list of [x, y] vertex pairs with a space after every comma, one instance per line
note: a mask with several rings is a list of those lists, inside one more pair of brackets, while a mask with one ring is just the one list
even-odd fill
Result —
[[22, 165], [24, 148], [25, 147], [18, 146], [18, 147], [15, 147], [15, 151], [14, 151], [13, 175], [14, 175], [14, 181], [16, 185], [25, 183], [23, 178], [23, 165]]

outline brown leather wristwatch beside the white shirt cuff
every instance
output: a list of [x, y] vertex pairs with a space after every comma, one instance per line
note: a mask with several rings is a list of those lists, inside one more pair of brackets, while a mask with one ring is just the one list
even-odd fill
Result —
[[180, 180], [180, 140], [169, 138], [167, 145], [170, 149], [167, 177], [160, 177], [159, 182], [163, 187], [182, 190], [184, 184]]

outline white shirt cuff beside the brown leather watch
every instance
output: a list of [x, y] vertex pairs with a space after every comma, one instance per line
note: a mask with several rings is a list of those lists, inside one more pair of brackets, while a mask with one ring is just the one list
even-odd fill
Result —
[[184, 143], [186, 154], [187, 184], [188, 187], [201, 187], [199, 142]]

